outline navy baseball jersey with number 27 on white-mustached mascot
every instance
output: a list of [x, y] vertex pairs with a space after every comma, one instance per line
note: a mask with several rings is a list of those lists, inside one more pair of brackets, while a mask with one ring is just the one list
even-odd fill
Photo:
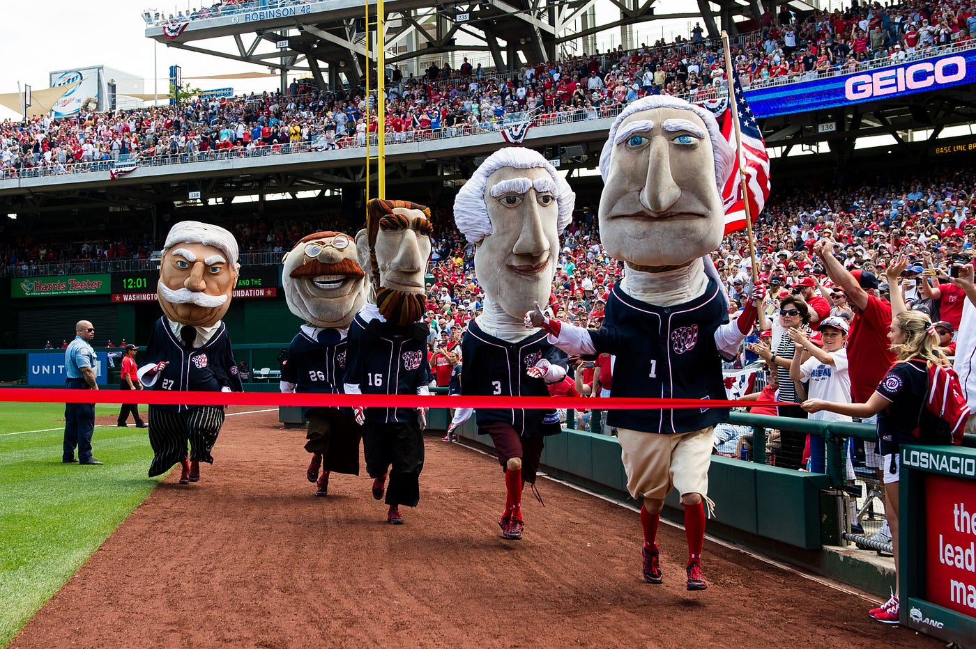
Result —
[[[244, 390], [224, 323], [203, 347], [186, 349], [170, 330], [166, 317], [160, 318], [152, 327], [142, 364], [161, 361], [169, 364], [158, 373], [153, 390], [220, 392], [224, 387], [233, 392]], [[199, 406], [159, 404], [152, 407], [183, 412]]]

